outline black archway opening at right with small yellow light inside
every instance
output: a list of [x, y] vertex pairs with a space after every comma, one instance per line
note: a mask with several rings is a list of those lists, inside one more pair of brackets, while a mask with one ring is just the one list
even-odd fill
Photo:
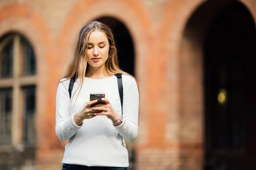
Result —
[[253, 18], [238, 1], [218, 14], [206, 36], [205, 170], [255, 169], [255, 41]]

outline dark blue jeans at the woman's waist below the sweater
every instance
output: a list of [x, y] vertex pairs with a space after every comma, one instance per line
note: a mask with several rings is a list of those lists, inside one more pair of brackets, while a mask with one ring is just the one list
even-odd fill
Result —
[[127, 170], [127, 167], [87, 167], [75, 164], [63, 164], [62, 170]]

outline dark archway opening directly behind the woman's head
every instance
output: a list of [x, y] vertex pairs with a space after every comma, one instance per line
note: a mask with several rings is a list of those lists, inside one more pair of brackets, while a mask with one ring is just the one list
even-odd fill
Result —
[[114, 34], [120, 68], [135, 76], [134, 74], [134, 45], [131, 35], [125, 25], [113, 17], [101, 17], [96, 20], [108, 25]]

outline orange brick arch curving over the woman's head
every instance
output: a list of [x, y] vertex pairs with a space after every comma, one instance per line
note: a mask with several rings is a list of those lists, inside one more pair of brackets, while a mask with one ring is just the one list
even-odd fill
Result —
[[[140, 84], [140, 101], [147, 102], [148, 98], [145, 91], [148, 91], [146, 86], [148, 75], [145, 72], [149, 72], [150, 62], [145, 63], [145, 59], [153, 60], [156, 48], [152, 48], [155, 45], [153, 24], [144, 6], [137, 0], [95, 0], [88, 2], [80, 0], [73, 7], [64, 26], [59, 31], [57, 38], [58, 51], [60, 51], [59, 56], [63, 56], [60, 57], [59, 63], [63, 66], [62, 68], [66, 68], [65, 65], [70, 55], [72, 55], [77, 37], [74, 33], [78, 34], [82, 26], [94, 18], [106, 16], [122, 22], [131, 34], [134, 43], [135, 65], [140, 65], [140, 67], [135, 66], [134, 70]], [[154, 51], [149, 52], [151, 49], [154, 49]], [[62, 72], [64, 73], [64, 71]], [[140, 105], [142, 106], [140, 107], [140, 113], [147, 113], [147, 108], [143, 107], [143, 103]], [[137, 144], [146, 142], [146, 118], [146, 114], [140, 114], [140, 136], [137, 139]]]

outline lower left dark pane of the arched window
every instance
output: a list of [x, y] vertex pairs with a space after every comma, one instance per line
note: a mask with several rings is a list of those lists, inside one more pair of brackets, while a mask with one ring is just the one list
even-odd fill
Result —
[[11, 145], [12, 90], [0, 90], [0, 145]]

